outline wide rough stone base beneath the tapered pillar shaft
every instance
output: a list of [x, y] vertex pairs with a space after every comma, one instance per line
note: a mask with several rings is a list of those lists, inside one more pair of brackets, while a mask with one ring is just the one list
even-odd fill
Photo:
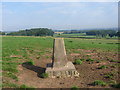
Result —
[[79, 77], [79, 73], [76, 71], [72, 62], [67, 62], [66, 66], [60, 68], [51, 68], [48, 67], [46, 69], [46, 73], [48, 73], [49, 77]]

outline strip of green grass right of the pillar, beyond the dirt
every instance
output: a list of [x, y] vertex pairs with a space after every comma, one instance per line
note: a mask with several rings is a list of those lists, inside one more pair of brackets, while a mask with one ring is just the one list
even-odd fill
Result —
[[[73, 41], [72, 43], [69, 41]], [[94, 43], [92, 43], [94, 42]], [[99, 44], [101, 42], [101, 44]], [[86, 50], [104, 50], [104, 51], [118, 51], [117, 44], [107, 44], [107, 42], [117, 43], [118, 40], [112, 39], [65, 39], [65, 46], [67, 49], [86, 49]], [[89, 46], [88, 46], [89, 45]]]

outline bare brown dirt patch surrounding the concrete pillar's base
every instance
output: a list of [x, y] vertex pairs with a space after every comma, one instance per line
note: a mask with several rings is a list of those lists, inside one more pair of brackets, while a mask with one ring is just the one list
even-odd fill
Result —
[[[100, 53], [91, 50], [80, 50], [82, 53], [70, 53], [68, 55], [69, 61], [74, 61], [76, 58], [84, 58], [85, 55], [91, 55], [92, 59], [97, 59], [101, 62], [83, 62], [81, 65], [75, 65], [76, 70], [80, 73], [79, 78], [41, 78], [40, 74], [45, 71], [46, 64], [50, 63], [52, 60], [48, 59], [34, 59], [35, 65], [22, 64], [18, 66], [19, 73], [17, 74], [19, 81], [16, 82], [19, 85], [25, 84], [32, 86], [34, 88], [71, 88], [73, 86], [78, 86], [80, 88], [109, 88], [110, 86], [92, 86], [91, 83], [95, 80], [103, 80], [105, 82], [110, 81], [110, 79], [104, 78], [104, 73], [107, 72], [118, 72], [117, 68], [112, 68], [110, 65], [116, 62], [110, 62], [109, 58], [117, 59], [117, 54], [111, 53]], [[108, 54], [108, 55], [107, 55]], [[51, 55], [50, 55], [51, 56]], [[99, 66], [106, 65], [109, 68], [98, 69]], [[117, 75], [114, 76], [113, 80], [117, 80]]]

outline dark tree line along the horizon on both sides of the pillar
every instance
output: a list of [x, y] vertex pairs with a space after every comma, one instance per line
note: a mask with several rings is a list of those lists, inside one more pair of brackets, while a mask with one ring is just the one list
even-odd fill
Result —
[[[75, 33], [86, 33], [86, 35], [95, 35], [100, 37], [113, 37], [118, 36], [120, 37], [120, 32], [116, 30], [65, 30], [63, 31], [64, 34], [75, 34]], [[11, 32], [6, 35], [12, 36], [53, 36], [54, 31], [48, 28], [32, 28], [26, 30], [20, 30], [17, 32]], [[0, 35], [5, 35], [5, 32], [0, 31]]]

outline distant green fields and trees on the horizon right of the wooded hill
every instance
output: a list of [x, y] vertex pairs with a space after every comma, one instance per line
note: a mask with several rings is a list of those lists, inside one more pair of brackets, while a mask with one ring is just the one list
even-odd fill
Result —
[[[74, 37], [74, 38], [88, 38], [86, 36], [89, 36], [90, 38], [112, 38], [116, 36], [120, 36], [119, 32], [116, 32], [115, 30], [84, 30], [84, 31], [63, 31], [63, 34], [55, 34], [56, 37]], [[83, 37], [82, 37], [83, 36]], [[90, 37], [94, 36], [94, 37]]]

